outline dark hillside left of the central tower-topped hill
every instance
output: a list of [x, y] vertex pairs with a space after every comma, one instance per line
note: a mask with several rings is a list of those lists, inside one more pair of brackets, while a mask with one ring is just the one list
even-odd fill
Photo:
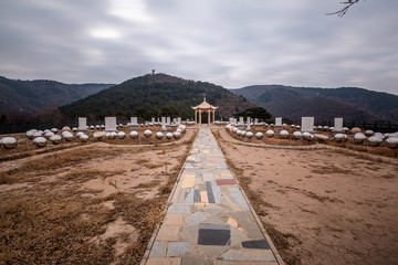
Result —
[[0, 76], [0, 115], [36, 115], [48, 107], [62, 106], [111, 84], [63, 84], [55, 81], [20, 81]]

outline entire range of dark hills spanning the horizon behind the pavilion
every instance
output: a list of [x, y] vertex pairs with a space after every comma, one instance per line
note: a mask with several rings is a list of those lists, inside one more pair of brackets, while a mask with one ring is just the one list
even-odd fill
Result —
[[345, 121], [398, 123], [398, 96], [357, 87], [312, 88], [284, 85], [254, 85], [238, 89], [184, 80], [166, 74], [148, 74], [122, 84], [63, 84], [55, 81], [20, 81], [0, 76], [0, 116], [38, 115], [55, 106], [72, 119], [87, 116], [169, 115], [192, 118], [191, 106], [207, 100], [219, 106], [217, 117], [228, 118], [260, 106], [275, 117], [298, 121], [343, 117]]

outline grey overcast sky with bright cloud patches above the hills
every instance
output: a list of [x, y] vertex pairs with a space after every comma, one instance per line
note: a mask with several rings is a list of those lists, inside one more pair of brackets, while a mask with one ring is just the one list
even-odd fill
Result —
[[398, 95], [398, 1], [0, 0], [0, 75], [121, 83], [156, 72], [227, 88]]

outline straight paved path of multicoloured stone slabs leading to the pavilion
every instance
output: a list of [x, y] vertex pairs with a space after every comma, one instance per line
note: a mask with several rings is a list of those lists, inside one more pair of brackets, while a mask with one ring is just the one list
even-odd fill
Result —
[[169, 200], [147, 265], [280, 264], [208, 127], [200, 128]]

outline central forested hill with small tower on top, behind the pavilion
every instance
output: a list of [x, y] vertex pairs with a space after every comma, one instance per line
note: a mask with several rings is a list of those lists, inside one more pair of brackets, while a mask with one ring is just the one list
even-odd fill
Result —
[[60, 109], [70, 118], [138, 116], [149, 119], [159, 116], [180, 116], [185, 119], [193, 118], [191, 106], [202, 103], [205, 94], [208, 103], [219, 106], [217, 117], [228, 118], [234, 113], [255, 107], [242, 96], [214, 84], [154, 74], [125, 81]]

